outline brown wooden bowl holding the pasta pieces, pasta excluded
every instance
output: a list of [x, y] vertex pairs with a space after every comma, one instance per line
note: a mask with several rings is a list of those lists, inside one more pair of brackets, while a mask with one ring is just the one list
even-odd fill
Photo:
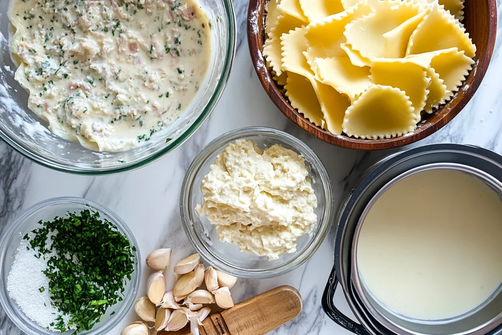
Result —
[[272, 79], [263, 57], [265, 43], [265, 5], [268, 0], [249, 0], [247, 12], [247, 42], [255, 70], [263, 87], [282, 113], [307, 133], [327, 143], [342, 148], [359, 150], [382, 150], [397, 148], [421, 140], [450, 122], [469, 102], [481, 84], [495, 45], [497, 11], [495, 0], [467, 0], [464, 9], [464, 26], [477, 52], [474, 65], [464, 84], [448, 103], [432, 114], [426, 114], [413, 133], [391, 139], [363, 140], [344, 134], [333, 135], [310, 123], [302, 114], [291, 106], [284, 92]]

